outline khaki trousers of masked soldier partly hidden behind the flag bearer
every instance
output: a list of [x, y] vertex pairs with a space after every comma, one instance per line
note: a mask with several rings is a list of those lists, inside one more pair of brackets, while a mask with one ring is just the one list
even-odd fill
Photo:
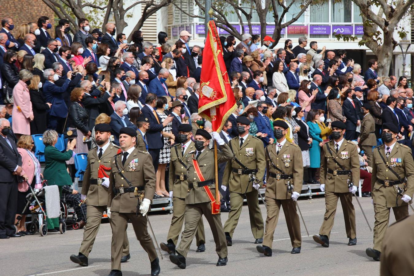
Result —
[[[173, 218], [171, 219], [170, 230], [168, 230], [167, 241], [172, 240], [174, 245], [177, 245], [178, 236], [180, 235], [183, 229], [184, 223], [184, 212], [185, 212], [185, 199], [178, 197], [173, 197]], [[197, 246], [200, 244], [205, 244], [205, 233], [204, 233], [204, 223], [202, 217], [200, 217], [200, 222], [197, 226], [197, 232], [195, 233], [195, 239], [197, 241]]]

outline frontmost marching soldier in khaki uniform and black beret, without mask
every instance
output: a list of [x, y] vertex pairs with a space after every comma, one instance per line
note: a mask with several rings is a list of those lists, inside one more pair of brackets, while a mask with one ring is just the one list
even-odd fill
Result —
[[[122, 151], [112, 158], [106, 211], [111, 219], [112, 228], [112, 270], [109, 276], [122, 276], [120, 261], [128, 220], [132, 222], [137, 239], [148, 253], [151, 275], [159, 275], [161, 270], [154, 243], [148, 234], [148, 220], [145, 216], [154, 197], [155, 170], [151, 156], [135, 148], [136, 136], [135, 130], [129, 127], [121, 128], [119, 144]], [[137, 210], [139, 201], [135, 196], [137, 193], [144, 194], [139, 210]]]

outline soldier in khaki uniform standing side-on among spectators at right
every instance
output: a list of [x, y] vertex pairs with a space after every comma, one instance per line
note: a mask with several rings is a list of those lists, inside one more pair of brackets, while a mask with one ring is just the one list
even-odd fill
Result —
[[375, 121], [369, 113], [370, 108], [369, 103], [364, 103], [361, 107], [363, 119], [361, 122], [361, 133], [358, 137], [358, 145], [368, 158], [368, 166], [372, 167], [372, 147], [377, 145], [377, 138], [375, 137]]

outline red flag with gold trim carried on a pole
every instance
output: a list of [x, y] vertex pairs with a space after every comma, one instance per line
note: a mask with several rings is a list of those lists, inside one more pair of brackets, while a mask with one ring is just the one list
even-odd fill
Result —
[[236, 108], [236, 99], [226, 71], [217, 27], [214, 21], [210, 20], [203, 50], [198, 113], [212, 122], [213, 131], [219, 132]]

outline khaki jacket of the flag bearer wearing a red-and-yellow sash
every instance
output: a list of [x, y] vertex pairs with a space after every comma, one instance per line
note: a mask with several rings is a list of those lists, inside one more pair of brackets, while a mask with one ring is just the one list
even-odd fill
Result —
[[[217, 163], [222, 163], [233, 158], [233, 153], [231, 152], [229, 146], [224, 144], [219, 146], [220, 151], [217, 151]], [[187, 156], [187, 181], [200, 181], [195, 173], [193, 160], [196, 160], [195, 151], [193, 154], [188, 154]], [[204, 176], [205, 180], [211, 180], [215, 178], [214, 173], [214, 149], [210, 150], [208, 147], [200, 154], [198, 157], [198, 166], [200, 167], [201, 173]], [[208, 185], [213, 196], [216, 196], [215, 185]], [[210, 202], [207, 193], [204, 190], [204, 187], [198, 187], [190, 189], [188, 187], [188, 194], [185, 197], [185, 204], [197, 204], [203, 202]]]

